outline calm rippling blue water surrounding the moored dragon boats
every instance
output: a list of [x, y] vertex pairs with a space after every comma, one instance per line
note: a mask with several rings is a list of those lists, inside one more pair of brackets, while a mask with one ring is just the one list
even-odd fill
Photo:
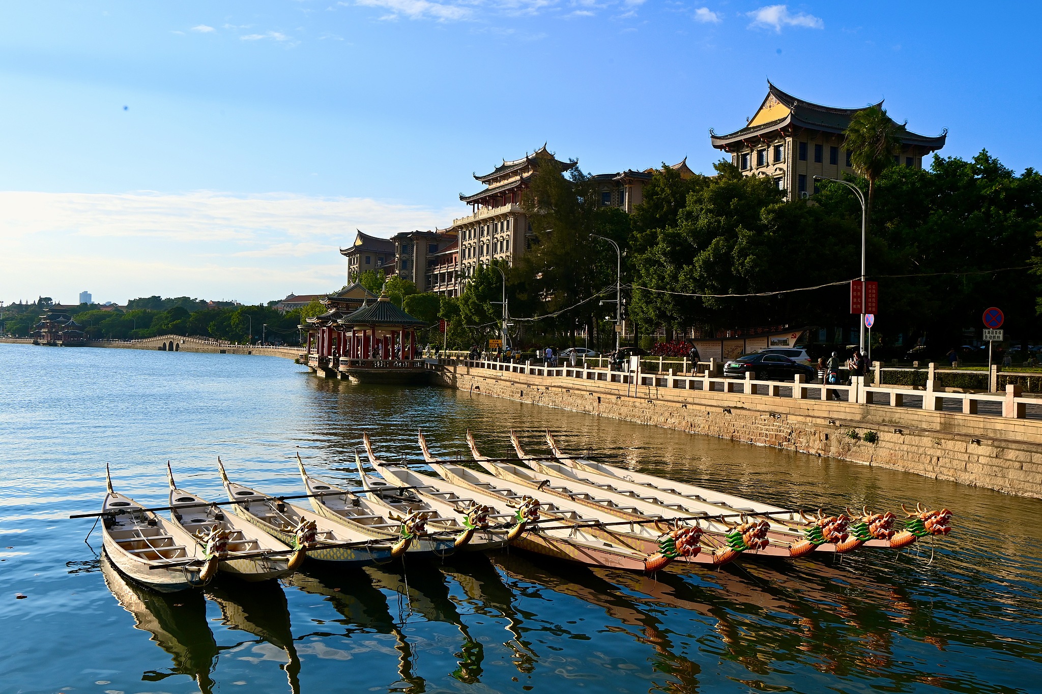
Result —
[[[1042, 682], [1042, 502], [436, 388], [353, 386], [270, 357], [0, 344], [2, 692], [1012, 692]], [[917, 500], [954, 534], [901, 555], [745, 561], [658, 580], [519, 551], [160, 596], [83, 542], [103, 467], [166, 502], [164, 464], [217, 499], [350, 480], [513, 427], [609, 462], [804, 508]], [[16, 599], [22, 593], [25, 599]]]

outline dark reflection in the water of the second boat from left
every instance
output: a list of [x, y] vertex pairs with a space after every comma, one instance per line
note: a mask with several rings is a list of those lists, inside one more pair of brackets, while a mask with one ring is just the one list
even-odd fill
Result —
[[245, 584], [224, 582], [210, 584], [206, 595], [221, 608], [225, 625], [247, 632], [283, 651], [286, 670], [293, 694], [300, 692], [300, 658], [290, 626], [290, 610], [286, 593], [277, 581]]

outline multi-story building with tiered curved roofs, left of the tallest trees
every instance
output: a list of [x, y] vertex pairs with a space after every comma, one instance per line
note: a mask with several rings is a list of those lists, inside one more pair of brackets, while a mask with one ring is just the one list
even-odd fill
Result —
[[448, 231], [458, 237], [458, 259], [455, 277], [456, 293], [462, 291], [467, 277], [478, 263], [505, 260], [510, 264], [524, 255], [531, 228], [521, 206], [536, 166], [549, 162], [564, 173], [576, 161], [561, 161], [543, 145], [532, 154], [521, 159], [503, 160], [492, 173], [474, 178], [485, 184], [485, 189], [460, 200], [471, 206], [471, 213], [452, 221]]

